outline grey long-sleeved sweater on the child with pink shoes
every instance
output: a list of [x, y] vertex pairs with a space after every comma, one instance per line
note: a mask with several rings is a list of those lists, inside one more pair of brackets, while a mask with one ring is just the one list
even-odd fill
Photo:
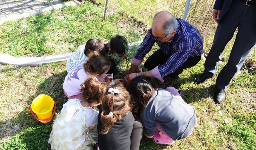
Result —
[[196, 124], [196, 112], [194, 107], [159, 88], [142, 110], [140, 119], [148, 136], [154, 135], [155, 122], [158, 121], [166, 133], [176, 140], [186, 138], [192, 132]]

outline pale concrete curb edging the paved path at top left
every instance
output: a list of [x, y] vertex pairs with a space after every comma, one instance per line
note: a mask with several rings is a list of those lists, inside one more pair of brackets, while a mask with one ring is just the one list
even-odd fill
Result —
[[65, 2], [65, 3], [61, 3], [61, 4], [55, 4], [55, 5], [52, 5], [52, 6], [45, 7], [45, 8], [39, 8], [38, 10], [30, 10], [30, 11], [26, 11], [26, 12], [16, 11], [16, 13], [18, 13], [18, 14], [14, 14], [12, 16], [8, 16], [8, 18], [1, 19], [0, 20], [0, 25], [3, 24], [6, 21], [17, 20], [17, 19], [20, 19], [20, 18], [23, 18], [23, 17], [28, 17], [30, 15], [37, 15], [37, 14], [40, 14], [42, 12], [47, 12], [47, 11], [54, 10], [54, 9], [60, 9], [64, 6], [75, 6], [75, 5], [76, 5], [75, 2], [70, 1], [70, 2]]

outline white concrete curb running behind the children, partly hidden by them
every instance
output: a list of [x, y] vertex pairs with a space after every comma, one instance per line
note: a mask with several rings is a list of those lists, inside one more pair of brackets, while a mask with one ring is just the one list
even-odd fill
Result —
[[[138, 42], [129, 43], [129, 46], [136, 46], [141, 44], [142, 40]], [[52, 62], [66, 61], [73, 53], [41, 56], [41, 57], [14, 57], [8, 54], [0, 53], [0, 63], [2, 64], [13, 64], [18, 66], [42, 66], [44, 64], [49, 64]]]

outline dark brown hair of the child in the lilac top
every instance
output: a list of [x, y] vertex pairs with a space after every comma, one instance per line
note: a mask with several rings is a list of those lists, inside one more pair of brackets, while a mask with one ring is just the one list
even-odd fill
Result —
[[98, 52], [88, 54], [88, 60], [84, 63], [84, 70], [90, 74], [102, 75], [112, 65], [110, 59]]

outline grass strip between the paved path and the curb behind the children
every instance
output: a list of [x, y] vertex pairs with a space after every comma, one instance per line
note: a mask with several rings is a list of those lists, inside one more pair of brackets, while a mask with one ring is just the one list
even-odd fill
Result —
[[90, 38], [110, 40], [114, 34], [121, 34], [130, 42], [142, 39], [132, 28], [133, 19], [114, 14], [103, 20], [102, 13], [102, 8], [85, 2], [5, 22], [0, 26], [0, 52], [12, 56], [64, 54], [74, 52]]

